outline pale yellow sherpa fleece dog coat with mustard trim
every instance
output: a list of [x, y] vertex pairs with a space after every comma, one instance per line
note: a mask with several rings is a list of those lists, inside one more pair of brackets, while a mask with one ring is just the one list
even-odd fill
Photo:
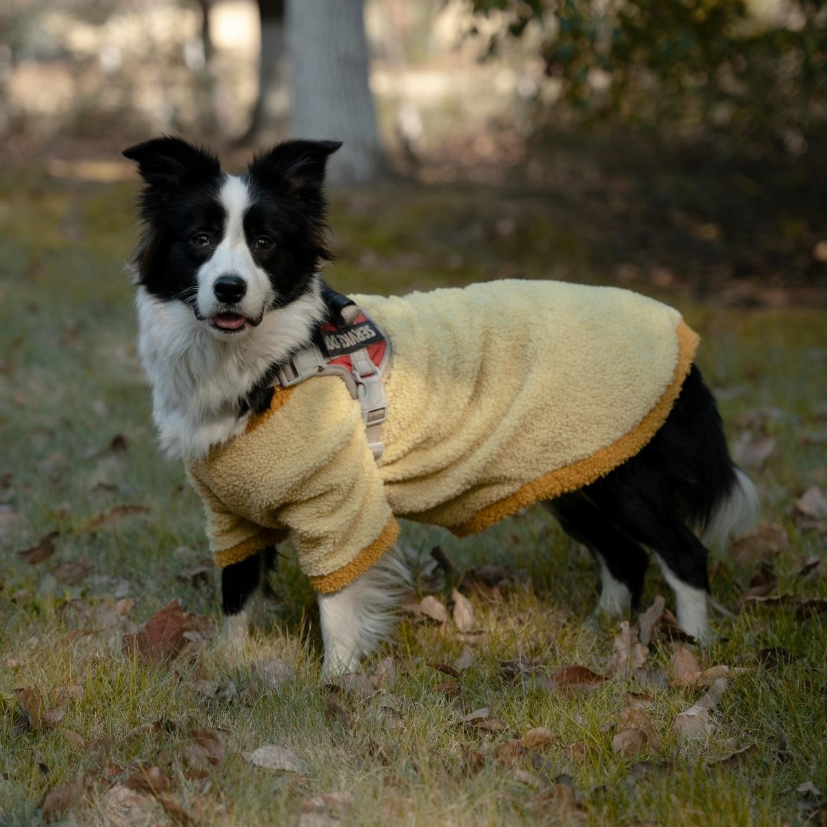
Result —
[[335, 375], [277, 387], [246, 433], [189, 476], [228, 566], [289, 534], [318, 592], [394, 543], [396, 517], [465, 535], [581, 488], [661, 427], [698, 337], [676, 310], [615, 288], [495, 281], [354, 296], [392, 344], [385, 452]]

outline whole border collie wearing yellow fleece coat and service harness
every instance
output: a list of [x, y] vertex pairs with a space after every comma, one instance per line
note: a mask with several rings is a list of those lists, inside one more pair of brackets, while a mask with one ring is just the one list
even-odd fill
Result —
[[[144, 182], [129, 269], [153, 418], [161, 448], [187, 462], [203, 497], [227, 635], [243, 638], [289, 534], [319, 592], [323, 669], [352, 671], [389, 635], [407, 583], [395, 515], [461, 534], [543, 502], [595, 558], [599, 609], [638, 604], [652, 552], [678, 624], [704, 639], [708, 546], [750, 528], [758, 496], [729, 457], [693, 363], [695, 334], [651, 299], [579, 285], [350, 302], [320, 275], [332, 258], [323, 180], [339, 146], [285, 141], [240, 176], [174, 136], [123, 153]], [[427, 319], [436, 332], [420, 330]], [[571, 344], [553, 349], [542, 341], [550, 333]], [[317, 356], [330, 352], [311, 374], [332, 366], [348, 387], [332, 375], [284, 379], [314, 342]], [[538, 370], [543, 360], [550, 367]], [[577, 390], [542, 398], [544, 383], [563, 380]], [[571, 403], [547, 426], [545, 402], [562, 396]], [[377, 423], [370, 436], [376, 411], [387, 444]]]

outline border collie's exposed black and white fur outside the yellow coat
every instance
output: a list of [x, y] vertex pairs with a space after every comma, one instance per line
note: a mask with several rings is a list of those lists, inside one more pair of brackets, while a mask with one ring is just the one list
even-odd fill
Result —
[[[325, 321], [319, 270], [325, 242], [323, 178], [332, 141], [287, 141], [246, 174], [176, 137], [133, 146], [143, 232], [132, 260], [139, 350], [160, 443], [170, 457], [203, 457], [243, 433], [251, 392], [305, 347]], [[666, 423], [608, 476], [547, 503], [594, 553], [600, 608], [637, 603], [646, 549], [665, 562], [678, 621], [706, 630], [704, 542], [748, 528], [752, 483], [730, 461], [715, 400], [693, 367]], [[696, 530], [705, 538], [702, 542]], [[264, 580], [263, 555], [222, 570], [230, 629], [246, 629]], [[404, 566], [392, 556], [319, 606], [328, 670], [352, 668], [391, 628]]]

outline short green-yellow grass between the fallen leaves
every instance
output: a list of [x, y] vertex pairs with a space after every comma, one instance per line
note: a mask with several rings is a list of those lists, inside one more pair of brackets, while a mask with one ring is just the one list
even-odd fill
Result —
[[[122, 275], [134, 237], [133, 195], [131, 184], [0, 179], [0, 825], [41, 824], [44, 791], [75, 779], [88, 782], [88, 792], [64, 816], [67, 824], [168, 823], [157, 805], [146, 812], [112, 805], [101, 743], [104, 762], [114, 765], [110, 772], [137, 762], [164, 768], [174, 780], [168, 796], [198, 810], [203, 825], [296, 824], [302, 801], [341, 790], [352, 791], [356, 802], [343, 813], [344, 825], [803, 823], [796, 786], [811, 781], [827, 790], [823, 621], [768, 607], [746, 609], [734, 620], [717, 617], [718, 638], [706, 662], [748, 669], [712, 712], [710, 739], [691, 747], [676, 741], [672, 721], [700, 691], [648, 689], [616, 676], [586, 696], [550, 693], [542, 678], [557, 667], [605, 670], [616, 624], [586, 624], [596, 600], [592, 566], [541, 509], [463, 541], [404, 527], [402, 543], [412, 559], [427, 557], [439, 543], [458, 571], [499, 562], [530, 578], [530, 586], [512, 590], [503, 603], [475, 601], [484, 635], [471, 644], [475, 660], [461, 676], [460, 696], [442, 692], [447, 676], [428, 665], [460, 655], [465, 643], [452, 624], [438, 629], [405, 619], [394, 645], [366, 665], [370, 671], [382, 655], [398, 657], [400, 675], [387, 698], [394, 713], [376, 698], [332, 697], [319, 682], [313, 595], [289, 556], [273, 581], [281, 598], [271, 608], [275, 622], [251, 640], [240, 665], [206, 653], [148, 666], [122, 653], [122, 633], [174, 598], [188, 611], [220, 620], [213, 582], [186, 577], [207, 556], [200, 505], [181, 467], [155, 450], [133, 347], [131, 288]], [[332, 281], [346, 290], [400, 292], [514, 275], [501, 272], [509, 266], [529, 277], [585, 279], [588, 239], [571, 227], [544, 230], [542, 203], [529, 212], [531, 220], [518, 217], [514, 232], [489, 242], [496, 208], [471, 194], [402, 188], [339, 194], [332, 223], [343, 258]], [[546, 262], [559, 250], [566, 251], [563, 261], [552, 270]], [[590, 276], [604, 277], [600, 271]], [[700, 365], [720, 391], [731, 435], [740, 432], [739, 420], [763, 411], [760, 428], [777, 439], [776, 452], [753, 477], [765, 519], [782, 523], [790, 535], [775, 561], [778, 590], [825, 595], [824, 579], [795, 574], [801, 557], [824, 555], [824, 538], [802, 529], [791, 510], [808, 485], [827, 483], [824, 443], [802, 440], [824, 430], [827, 314], [679, 304], [703, 336]], [[126, 437], [126, 452], [110, 450], [117, 435]], [[86, 530], [117, 504], [148, 512], [97, 533]], [[60, 532], [54, 557], [29, 565], [14, 553], [50, 531]], [[77, 585], [50, 573], [80, 557], [88, 574]], [[715, 559], [713, 589], [724, 605], [736, 608], [758, 562]], [[647, 599], [657, 593], [671, 602], [653, 569]], [[121, 626], [99, 629], [86, 617], [125, 594], [135, 605]], [[73, 637], [76, 629], [98, 630]], [[789, 650], [790, 662], [763, 668], [750, 660], [777, 646]], [[500, 662], [521, 654], [540, 668], [510, 681]], [[667, 644], [654, 645], [650, 665], [666, 669], [670, 654]], [[268, 686], [256, 663], [270, 658], [292, 664], [294, 678]], [[198, 680], [213, 681], [216, 694], [199, 695]], [[46, 706], [65, 707], [59, 724], [23, 725], [14, 689], [25, 686], [39, 687]], [[650, 715], [663, 741], [662, 753], [652, 756], [657, 760], [638, 766], [648, 752], [624, 759], [611, 746], [626, 690], [652, 692]], [[483, 706], [500, 718], [501, 733], [457, 723]], [[165, 725], [140, 729], [161, 717]], [[542, 759], [497, 760], [505, 739], [540, 726], [556, 736]], [[182, 759], [193, 727], [227, 732], [226, 758], [198, 779], [186, 777]], [[779, 730], [789, 744], [786, 762], [777, 759]], [[304, 775], [251, 767], [241, 752], [263, 743], [294, 750], [304, 759]], [[585, 744], [582, 760], [567, 757], [571, 743]], [[742, 766], [710, 765], [751, 744]], [[478, 772], [463, 769], [467, 748], [485, 757]], [[547, 801], [545, 791], [521, 782], [515, 769], [551, 789], [559, 776], [570, 777], [580, 809], [566, 809], [559, 796]], [[409, 800], [397, 802], [407, 815], [388, 815], [389, 801], [399, 798]]]

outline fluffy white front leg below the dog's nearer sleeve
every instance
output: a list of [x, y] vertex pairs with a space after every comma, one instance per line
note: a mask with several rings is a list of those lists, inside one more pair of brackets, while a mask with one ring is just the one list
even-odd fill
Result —
[[395, 549], [343, 589], [318, 595], [323, 674], [355, 672], [362, 657], [389, 638], [409, 571]]

